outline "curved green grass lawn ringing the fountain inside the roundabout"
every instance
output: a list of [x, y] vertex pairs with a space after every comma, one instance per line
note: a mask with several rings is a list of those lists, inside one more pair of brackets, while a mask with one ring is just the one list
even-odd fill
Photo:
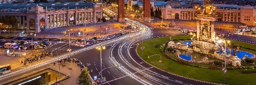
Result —
[[[186, 37], [185, 37], [186, 38]], [[172, 37], [172, 39], [178, 39], [178, 37]], [[144, 56], [142, 57], [142, 44], [137, 48], [137, 52], [146, 62], [157, 68], [169, 71], [174, 74], [178, 74], [184, 77], [198, 79], [207, 82], [224, 83], [224, 73], [221, 70], [211, 70], [206, 68], [196, 68], [189, 65], [182, 65], [171, 59], [168, 59], [160, 53], [160, 48], [155, 48], [157, 44], [164, 44], [168, 42], [169, 37], [160, 37], [152, 40], [144, 41]], [[153, 56], [148, 59], [148, 56], [160, 54], [162, 56], [162, 63], [159, 56]], [[230, 85], [256, 85], [256, 74], [241, 74], [241, 71], [256, 71], [256, 69], [236, 69], [228, 70], [226, 74], [226, 84]]]

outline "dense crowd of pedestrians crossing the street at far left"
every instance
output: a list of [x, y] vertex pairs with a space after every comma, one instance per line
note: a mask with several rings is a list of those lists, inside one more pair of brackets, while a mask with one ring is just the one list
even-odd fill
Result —
[[21, 64], [31, 64], [33, 62], [37, 62], [39, 60], [45, 59], [45, 57], [52, 57], [52, 52], [39, 53], [32, 57], [25, 57], [24, 60], [21, 60]]

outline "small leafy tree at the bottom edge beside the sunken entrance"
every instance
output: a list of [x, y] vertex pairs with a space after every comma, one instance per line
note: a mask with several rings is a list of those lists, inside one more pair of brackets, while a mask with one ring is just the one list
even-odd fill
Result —
[[89, 71], [87, 70], [87, 67], [85, 67], [83, 69], [83, 71], [81, 71], [78, 84], [79, 85], [92, 85], [90, 83], [90, 74], [89, 74]]

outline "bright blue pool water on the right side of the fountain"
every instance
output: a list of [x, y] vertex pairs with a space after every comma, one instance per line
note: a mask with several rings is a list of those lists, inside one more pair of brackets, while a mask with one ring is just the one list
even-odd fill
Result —
[[[231, 50], [229, 48], [227, 48], [227, 54], [230, 54], [230, 52], [233, 54], [234, 53], [234, 50]], [[222, 52], [220, 51], [219, 54], [222, 54]], [[253, 54], [250, 54], [248, 52], [245, 52], [245, 51], [236, 51], [236, 56], [239, 58], [239, 59], [243, 59], [244, 56], [247, 55], [248, 58], [253, 58], [254, 55]]]

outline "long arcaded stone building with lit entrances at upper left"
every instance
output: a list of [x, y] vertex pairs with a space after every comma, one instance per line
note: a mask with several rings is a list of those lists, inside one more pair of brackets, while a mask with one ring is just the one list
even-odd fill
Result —
[[0, 18], [14, 16], [18, 29], [34, 30], [96, 23], [103, 17], [102, 6], [93, 3], [0, 4]]

